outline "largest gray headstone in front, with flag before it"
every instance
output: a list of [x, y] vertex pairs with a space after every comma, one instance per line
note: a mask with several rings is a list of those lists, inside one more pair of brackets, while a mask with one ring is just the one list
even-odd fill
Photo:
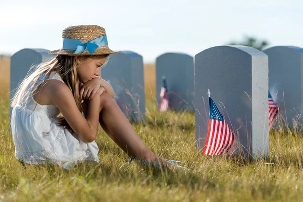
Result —
[[197, 148], [208, 134], [211, 97], [235, 134], [235, 154], [268, 156], [268, 57], [255, 48], [231, 45], [195, 56], [195, 124]]

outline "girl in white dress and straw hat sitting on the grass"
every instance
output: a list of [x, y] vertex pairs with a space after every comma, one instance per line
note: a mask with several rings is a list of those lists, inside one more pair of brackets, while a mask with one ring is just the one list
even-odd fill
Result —
[[114, 52], [103, 27], [63, 30], [58, 55], [40, 64], [21, 83], [12, 100], [15, 156], [28, 164], [53, 163], [65, 169], [85, 160], [99, 162], [94, 141], [98, 123], [131, 157], [143, 164], [178, 162], [157, 157], [139, 138], [100, 78], [100, 68]]

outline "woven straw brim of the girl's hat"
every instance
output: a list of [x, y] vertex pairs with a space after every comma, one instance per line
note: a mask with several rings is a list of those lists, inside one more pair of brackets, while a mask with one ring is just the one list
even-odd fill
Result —
[[63, 56], [96, 56], [96, 55], [108, 55], [108, 54], [117, 54], [120, 51], [112, 51], [107, 45], [98, 47], [93, 54], [90, 54], [87, 49], [83, 53], [74, 54], [74, 50], [67, 50], [67, 49], [58, 49], [52, 52], [49, 52], [50, 55], [63, 55]]

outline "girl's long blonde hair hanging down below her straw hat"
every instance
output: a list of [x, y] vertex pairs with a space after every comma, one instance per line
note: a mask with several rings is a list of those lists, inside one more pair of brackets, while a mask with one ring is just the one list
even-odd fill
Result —
[[[88, 59], [102, 59], [109, 55], [96, 55], [96, 56], [78, 56], [81, 62], [85, 62]], [[42, 74], [46, 74], [45, 80], [41, 85], [45, 85], [47, 79], [52, 72], [57, 72], [65, 84], [72, 91], [75, 98], [76, 105], [80, 112], [82, 112], [82, 98], [80, 97], [79, 90], [81, 88], [81, 83], [77, 75], [78, 64], [75, 62], [74, 56], [63, 56], [58, 55], [56, 58], [40, 63], [36, 68], [33, 66], [30, 68], [25, 79], [19, 84], [17, 91], [12, 98], [11, 106], [15, 107], [17, 103], [21, 106], [28, 102], [30, 93], [32, 93], [35, 84], [37, 83], [39, 77]], [[30, 86], [32, 85], [32, 86]], [[59, 125], [66, 126], [70, 128], [65, 118], [60, 115], [57, 117], [59, 119]]]

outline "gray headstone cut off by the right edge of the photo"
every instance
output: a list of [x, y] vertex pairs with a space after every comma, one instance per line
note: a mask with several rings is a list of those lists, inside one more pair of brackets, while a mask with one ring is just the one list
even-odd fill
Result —
[[279, 113], [283, 120], [286, 121], [287, 117], [288, 124], [295, 126], [293, 123], [302, 121], [303, 48], [274, 46], [264, 53], [268, 55], [269, 91], [280, 106]]

